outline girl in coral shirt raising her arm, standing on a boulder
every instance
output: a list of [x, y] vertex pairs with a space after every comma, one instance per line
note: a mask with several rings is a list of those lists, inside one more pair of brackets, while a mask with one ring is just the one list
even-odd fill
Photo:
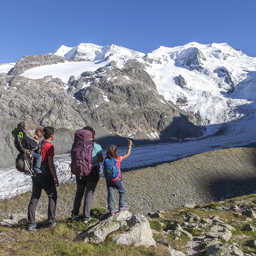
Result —
[[124, 210], [129, 209], [129, 206], [124, 205], [125, 189], [123, 187], [123, 182], [122, 182], [120, 163], [121, 163], [122, 160], [124, 160], [125, 158], [127, 158], [130, 155], [132, 144], [133, 144], [132, 141], [128, 142], [127, 153], [123, 156], [118, 156], [117, 146], [110, 145], [107, 148], [106, 158], [108, 158], [108, 159], [115, 158], [116, 161], [117, 161], [117, 168], [119, 170], [119, 176], [117, 178], [112, 179], [112, 180], [106, 179], [106, 185], [107, 185], [107, 188], [108, 188], [108, 210], [110, 211], [110, 215], [115, 214], [115, 210], [114, 210], [114, 189], [117, 189], [117, 191], [119, 193], [119, 209], [118, 209], [118, 212], [122, 212]]

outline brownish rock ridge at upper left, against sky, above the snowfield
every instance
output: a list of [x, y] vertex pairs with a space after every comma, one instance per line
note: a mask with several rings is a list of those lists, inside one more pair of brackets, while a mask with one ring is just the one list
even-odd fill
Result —
[[20, 75], [28, 69], [43, 65], [57, 64], [58, 62], [63, 63], [64, 58], [53, 54], [24, 56], [15, 64], [14, 68], [9, 71], [8, 75]]

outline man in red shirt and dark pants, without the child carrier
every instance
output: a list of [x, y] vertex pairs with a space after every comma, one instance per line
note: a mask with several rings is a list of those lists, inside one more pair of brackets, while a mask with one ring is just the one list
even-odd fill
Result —
[[44, 142], [41, 147], [42, 152], [42, 174], [31, 176], [32, 178], [32, 195], [28, 205], [28, 227], [27, 230], [32, 231], [40, 227], [40, 223], [36, 223], [36, 205], [41, 197], [42, 189], [48, 195], [48, 222], [49, 228], [56, 225], [55, 211], [57, 202], [57, 190], [59, 186], [56, 169], [53, 163], [54, 147], [51, 141], [54, 139], [53, 127], [47, 126], [43, 129]]

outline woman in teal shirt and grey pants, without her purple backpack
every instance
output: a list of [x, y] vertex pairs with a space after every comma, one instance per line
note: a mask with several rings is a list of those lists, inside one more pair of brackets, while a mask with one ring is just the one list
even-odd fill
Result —
[[[92, 132], [92, 138], [94, 139], [94, 143], [92, 143], [92, 162], [94, 168], [98, 166], [98, 162], [102, 163], [104, 161], [102, 155], [102, 148], [98, 144], [95, 139], [95, 131], [90, 126], [85, 126], [82, 130], [87, 130]], [[92, 197], [95, 191], [95, 188], [100, 180], [100, 173], [99, 172], [90, 172], [87, 176], [76, 176], [76, 183], [77, 183], [77, 191], [74, 199], [74, 206], [72, 212], [72, 219], [77, 220], [77, 215], [79, 214], [79, 209], [82, 203], [82, 198], [84, 197], [84, 206], [83, 206], [83, 221], [84, 224], [88, 223], [88, 220], [91, 219], [90, 216], [90, 208], [92, 204]]]

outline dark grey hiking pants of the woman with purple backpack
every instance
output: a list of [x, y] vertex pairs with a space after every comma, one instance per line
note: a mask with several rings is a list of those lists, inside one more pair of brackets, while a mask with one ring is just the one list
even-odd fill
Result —
[[77, 192], [75, 195], [73, 210], [71, 211], [72, 215], [77, 216], [79, 214], [79, 209], [82, 203], [82, 199], [84, 197], [83, 219], [90, 219], [92, 197], [99, 180], [100, 174], [83, 176], [82, 179], [80, 179], [80, 177], [76, 177]]

